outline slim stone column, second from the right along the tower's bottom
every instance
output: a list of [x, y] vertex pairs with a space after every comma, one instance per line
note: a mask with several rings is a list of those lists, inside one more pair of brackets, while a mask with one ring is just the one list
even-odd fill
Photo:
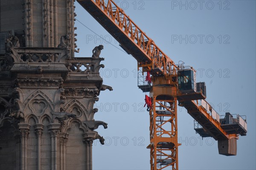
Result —
[[66, 170], [66, 144], [68, 133], [60, 134], [60, 170]]

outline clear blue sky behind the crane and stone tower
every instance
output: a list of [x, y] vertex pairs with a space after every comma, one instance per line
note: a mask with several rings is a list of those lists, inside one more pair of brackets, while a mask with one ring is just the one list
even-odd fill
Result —
[[[175, 63], [180, 60], [197, 70], [197, 82], [206, 82], [207, 101], [215, 110], [247, 116], [247, 136], [237, 142], [237, 156], [218, 154], [218, 143], [201, 139], [193, 119], [178, 110], [179, 168], [181, 170], [256, 169], [256, 1], [115, 1]], [[102, 91], [95, 108], [105, 145], [93, 144], [95, 170], [150, 169], [149, 115], [145, 94], [137, 87], [137, 62], [120, 50], [102, 26], [76, 3], [76, 57], [90, 57], [104, 45], [101, 76], [113, 91]], [[111, 42], [111, 43], [109, 43]], [[118, 49], [119, 48], [119, 49]], [[147, 93], [148, 94], [148, 93]]]

